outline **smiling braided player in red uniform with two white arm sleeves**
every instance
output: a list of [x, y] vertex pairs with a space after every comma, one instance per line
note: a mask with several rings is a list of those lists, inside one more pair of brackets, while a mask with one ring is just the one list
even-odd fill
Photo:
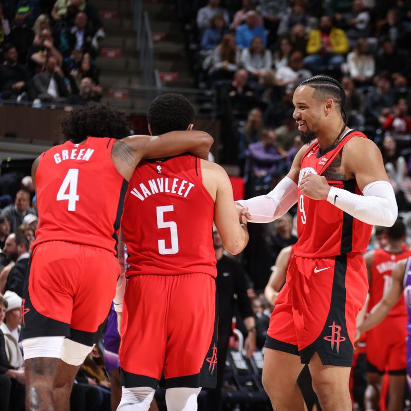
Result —
[[296, 379], [309, 364], [322, 409], [351, 411], [356, 316], [368, 290], [361, 253], [371, 225], [392, 226], [398, 214], [381, 153], [348, 128], [344, 103], [337, 80], [303, 81], [294, 91], [293, 117], [305, 142], [313, 142], [268, 195], [240, 201], [255, 222], [273, 221], [298, 201], [298, 241], [275, 301], [264, 358], [263, 384], [278, 410], [303, 409]]

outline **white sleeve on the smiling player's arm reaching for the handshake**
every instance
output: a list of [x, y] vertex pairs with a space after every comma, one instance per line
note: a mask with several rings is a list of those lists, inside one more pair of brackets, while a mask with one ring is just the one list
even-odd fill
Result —
[[298, 187], [289, 177], [284, 177], [265, 196], [239, 200], [242, 207], [248, 207], [253, 218], [250, 222], [270, 222], [281, 217], [297, 202]]

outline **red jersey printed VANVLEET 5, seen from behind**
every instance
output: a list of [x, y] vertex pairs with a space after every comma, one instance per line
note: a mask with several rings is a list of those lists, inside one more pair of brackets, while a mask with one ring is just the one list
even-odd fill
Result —
[[206, 273], [215, 277], [214, 201], [200, 160], [142, 162], [128, 184], [121, 220], [127, 275]]

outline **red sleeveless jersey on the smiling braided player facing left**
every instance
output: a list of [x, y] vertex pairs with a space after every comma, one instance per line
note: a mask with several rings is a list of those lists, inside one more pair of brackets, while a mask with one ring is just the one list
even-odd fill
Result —
[[[315, 141], [304, 154], [298, 177], [298, 241], [294, 248], [295, 255], [318, 258], [365, 252], [372, 226], [344, 213], [327, 200], [312, 200], [300, 192], [301, 179], [309, 173], [323, 174], [344, 145], [356, 136], [367, 138], [363, 133], [351, 130], [337, 145], [321, 152], [319, 143]], [[362, 195], [354, 179], [328, 181], [328, 184]]]

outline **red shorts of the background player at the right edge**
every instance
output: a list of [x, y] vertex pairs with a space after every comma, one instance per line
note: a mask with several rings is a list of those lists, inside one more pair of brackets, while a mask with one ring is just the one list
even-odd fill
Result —
[[369, 372], [405, 375], [407, 366], [407, 317], [388, 316], [367, 331], [367, 368]]

